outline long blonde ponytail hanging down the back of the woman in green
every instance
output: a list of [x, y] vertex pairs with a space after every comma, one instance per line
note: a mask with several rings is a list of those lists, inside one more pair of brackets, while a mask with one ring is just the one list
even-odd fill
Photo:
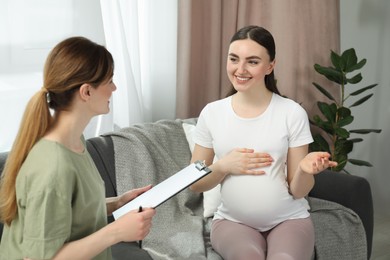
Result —
[[16, 177], [34, 144], [51, 125], [47, 94], [42, 88], [29, 101], [0, 180], [0, 221], [10, 225], [17, 214]]

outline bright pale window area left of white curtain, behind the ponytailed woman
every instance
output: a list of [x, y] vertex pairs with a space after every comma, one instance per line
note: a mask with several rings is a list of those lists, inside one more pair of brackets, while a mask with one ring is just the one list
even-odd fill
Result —
[[29, 98], [42, 87], [54, 45], [76, 35], [104, 44], [104, 33], [99, 0], [0, 0], [0, 6], [1, 152], [11, 148]]

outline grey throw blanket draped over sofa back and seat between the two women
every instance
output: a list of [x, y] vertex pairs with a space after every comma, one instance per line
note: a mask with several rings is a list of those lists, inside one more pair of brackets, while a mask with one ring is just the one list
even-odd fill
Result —
[[[114, 143], [118, 194], [156, 185], [190, 164], [182, 122], [161, 120], [108, 134]], [[221, 259], [204, 238], [202, 195], [185, 189], [156, 210], [143, 241], [153, 259]]]

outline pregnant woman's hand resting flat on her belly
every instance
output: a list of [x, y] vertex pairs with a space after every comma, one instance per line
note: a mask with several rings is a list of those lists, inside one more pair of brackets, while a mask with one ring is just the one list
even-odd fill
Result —
[[253, 149], [236, 148], [219, 160], [223, 172], [235, 175], [262, 175], [261, 168], [270, 166], [273, 158], [268, 153], [255, 152]]

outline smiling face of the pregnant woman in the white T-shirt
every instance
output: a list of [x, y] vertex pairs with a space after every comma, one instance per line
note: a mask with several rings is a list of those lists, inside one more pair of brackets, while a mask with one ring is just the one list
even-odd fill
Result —
[[237, 91], [265, 88], [264, 78], [272, 72], [274, 65], [267, 49], [251, 39], [230, 44], [226, 70]]

